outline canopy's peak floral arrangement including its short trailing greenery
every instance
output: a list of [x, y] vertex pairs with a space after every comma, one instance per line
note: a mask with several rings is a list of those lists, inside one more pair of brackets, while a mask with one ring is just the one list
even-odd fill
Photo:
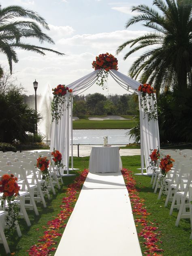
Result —
[[100, 69], [100, 72], [98, 73], [98, 79], [97, 84], [102, 86], [104, 89], [107, 83], [108, 78], [108, 71], [110, 69], [118, 70], [117, 68], [118, 60], [110, 53], [102, 53], [96, 56], [96, 60], [92, 62], [92, 68], [95, 70]]

